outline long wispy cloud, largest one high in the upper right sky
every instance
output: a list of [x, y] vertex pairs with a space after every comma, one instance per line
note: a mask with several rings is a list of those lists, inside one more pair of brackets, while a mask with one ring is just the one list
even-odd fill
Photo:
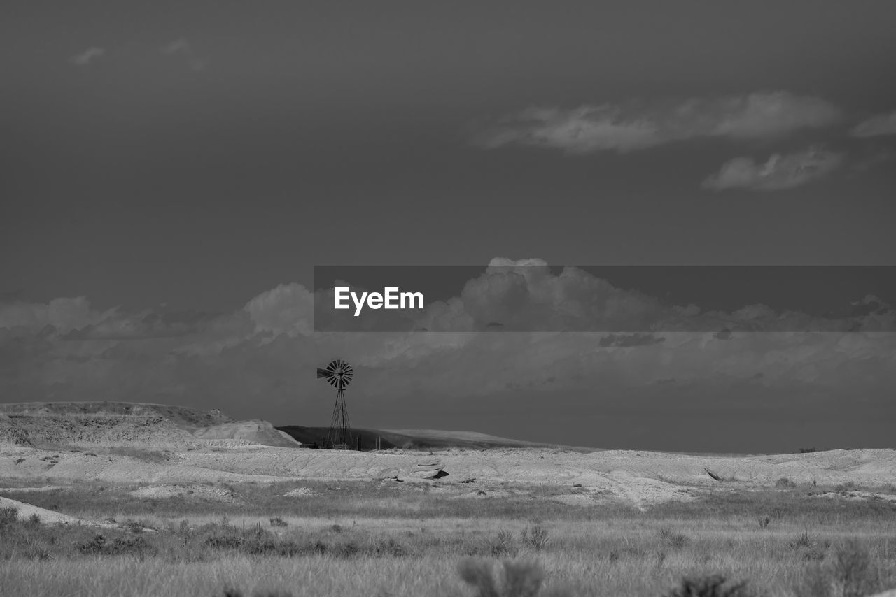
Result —
[[571, 154], [648, 149], [695, 138], [769, 139], [835, 123], [840, 110], [823, 98], [788, 91], [684, 101], [632, 101], [573, 109], [531, 107], [480, 132], [486, 149], [530, 146]]

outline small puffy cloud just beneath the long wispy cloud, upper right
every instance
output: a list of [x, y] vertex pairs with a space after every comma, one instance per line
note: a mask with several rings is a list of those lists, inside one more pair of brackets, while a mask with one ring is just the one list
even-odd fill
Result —
[[840, 167], [843, 159], [843, 154], [818, 147], [790, 154], [776, 153], [762, 164], [753, 158], [734, 158], [723, 164], [717, 174], [706, 178], [702, 188], [711, 191], [792, 189], [830, 175]]

